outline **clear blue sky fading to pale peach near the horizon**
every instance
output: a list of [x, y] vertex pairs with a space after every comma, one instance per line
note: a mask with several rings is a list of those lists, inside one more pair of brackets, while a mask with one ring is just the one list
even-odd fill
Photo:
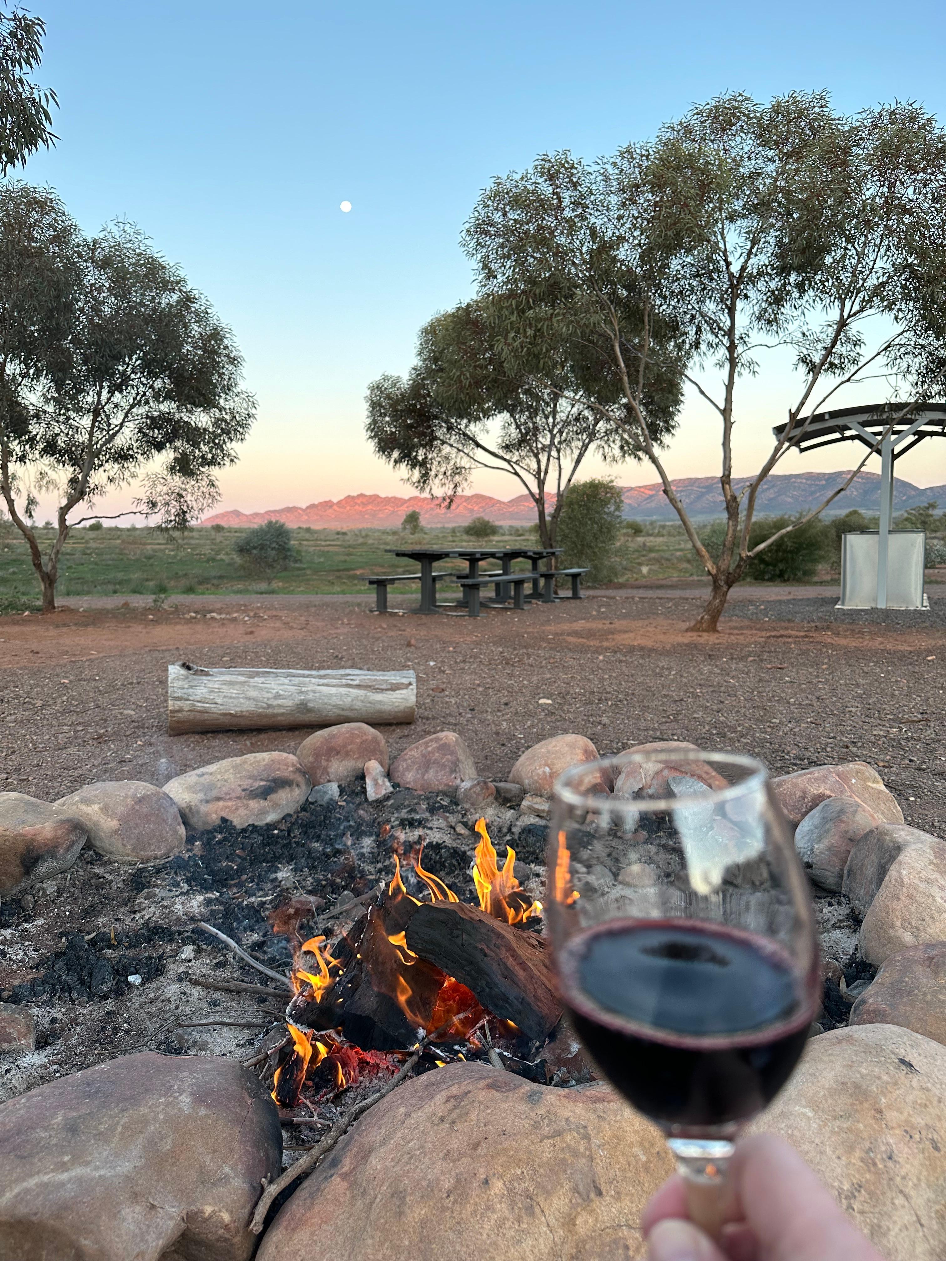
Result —
[[[365, 388], [406, 371], [420, 324], [468, 296], [457, 242], [492, 175], [546, 149], [608, 153], [725, 90], [827, 87], [843, 110], [901, 97], [946, 113], [942, 6], [913, 0], [30, 8], [62, 108], [58, 146], [26, 178], [86, 228], [137, 222], [233, 327], [260, 401], [222, 479], [222, 507], [243, 509], [409, 493], [363, 441]], [[785, 410], [774, 380], [745, 398], [739, 472]], [[836, 450], [817, 467], [846, 467]], [[902, 475], [946, 482], [946, 450], [911, 459]], [[669, 463], [718, 467], [695, 404]], [[515, 493], [497, 474], [476, 489]]]

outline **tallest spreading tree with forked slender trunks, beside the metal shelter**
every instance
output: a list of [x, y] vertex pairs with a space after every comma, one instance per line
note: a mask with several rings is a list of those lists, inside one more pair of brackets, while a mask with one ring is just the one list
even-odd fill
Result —
[[[869, 378], [893, 404], [892, 421], [946, 381], [946, 135], [912, 103], [844, 116], [825, 93], [768, 105], [721, 96], [613, 158], [542, 155], [497, 178], [464, 245], [482, 294], [518, 294], [534, 313], [555, 314], [563, 340], [608, 359], [626, 404], [619, 424], [711, 580], [695, 630], [715, 630], [750, 560], [817, 516], [863, 467], [750, 545], [759, 488], [791, 449], [773, 440], [745, 489], [733, 489], [734, 430], [747, 419], [739, 385], [766, 351], [788, 357], [791, 392], [772, 420], [795, 436], [806, 415], [843, 405]], [[674, 368], [720, 425], [727, 528], [715, 559], [674, 491], [643, 406], [648, 382]]]

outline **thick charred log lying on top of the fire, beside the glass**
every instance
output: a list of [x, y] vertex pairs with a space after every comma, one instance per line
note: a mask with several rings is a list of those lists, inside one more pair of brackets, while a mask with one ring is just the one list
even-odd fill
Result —
[[455, 977], [478, 1001], [527, 1038], [545, 1040], [561, 1016], [545, 939], [463, 902], [419, 905], [406, 942], [421, 960]]

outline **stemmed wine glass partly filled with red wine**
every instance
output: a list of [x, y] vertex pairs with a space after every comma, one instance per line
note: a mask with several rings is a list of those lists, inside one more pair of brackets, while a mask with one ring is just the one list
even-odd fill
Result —
[[573, 767], [549, 827], [563, 1002], [602, 1073], [667, 1137], [718, 1236], [734, 1140], [791, 1076], [821, 999], [807, 880], [754, 758]]

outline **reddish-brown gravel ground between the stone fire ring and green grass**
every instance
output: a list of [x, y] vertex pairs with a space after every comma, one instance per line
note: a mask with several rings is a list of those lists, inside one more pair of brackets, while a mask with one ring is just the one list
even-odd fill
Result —
[[[93, 779], [154, 781], [161, 759], [185, 770], [291, 750], [308, 734], [168, 736], [170, 661], [412, 667], [418, 721], [387, 731], [395, 753], [452, 729], [481, 773], [503, 777], [523, 748], [571, 730], [603, 753], [689, 739], [758, 753], [776, 772], [864, 759], [880, 767], [908, 821], [946, 827], [941, 618], [820, 620], [830, 600], [819, 591], [820, 605], [802, 601], [814, 619], [786, 622], [785, 594], [740, 593], [740, 615], [714, 637], [686, 633], [699, 605], [674, 590], [604, 593], [478, 622], [378, 618], [365, 601], [318, 596], [0, 618], [0, 789], [54, 799]], [[798, 615], [795, 600], [783, 608]]]

